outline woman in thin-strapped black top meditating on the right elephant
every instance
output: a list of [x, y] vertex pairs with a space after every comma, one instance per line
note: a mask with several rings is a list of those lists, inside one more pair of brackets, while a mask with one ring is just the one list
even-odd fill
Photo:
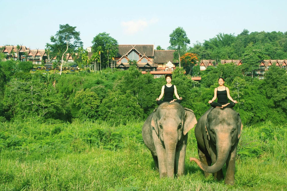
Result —
[[[212, 100], [209, 100], [208, 103], [212, 107], [220, 107], [220, 108], [225, 108], [225, 107], [234, 107], [234, 105], [237, 103], [236, 100], [233, 100], [232, 97], [229, 94], [229, 89], [228, 87], [224, 86], [224, 79], [222, 77], [218, 78], [218, 84], [219, 86], [214, 89], [214, 97]], [[217, 102], [214, 102], [217, 99]], [[228, 99], [230, 99], [230, 103], [228, 103]]]

